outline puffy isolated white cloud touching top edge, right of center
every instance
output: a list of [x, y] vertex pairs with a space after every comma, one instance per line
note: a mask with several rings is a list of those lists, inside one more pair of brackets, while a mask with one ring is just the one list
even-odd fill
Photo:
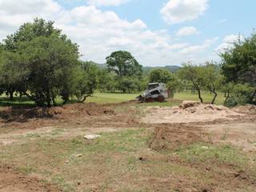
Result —
[[208, 7], [208, 0], [170, 0], [162, 8], [163, 19], [168, 23], [193, 20], [202, 15]]

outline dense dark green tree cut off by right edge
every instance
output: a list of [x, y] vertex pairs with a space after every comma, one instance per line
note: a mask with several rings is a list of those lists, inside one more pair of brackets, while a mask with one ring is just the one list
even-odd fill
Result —
[[256, 97], [256, 33], [249, 38], [239, 38], [233, 47], [220, 55], [222, 72], [226, 82], [242, 83], [251, 86], [250, 102]]

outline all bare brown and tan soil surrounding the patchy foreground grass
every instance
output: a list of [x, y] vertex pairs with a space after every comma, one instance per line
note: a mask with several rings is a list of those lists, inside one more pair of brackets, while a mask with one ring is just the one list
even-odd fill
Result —
[[[72, 138], [77, 135], [97, 134], [98, 132], [146, 127], [154, 128], [150, 140], [151, 150], [177, 150], [194, 142], [231, 143], [242, 150], [256, 151], [256, 114], [255, 106], [238, 106], [229, 109], [224, 106], [183, 102], [177, 107], [147, 107], [141, 117], [137, 102], [119, 104], [72, 104], [53, 108], [0, 108], [0, 146], [26, 142], [26, 136], [38, 134], [39, 137]], [[128, 106], [128, 107], [127, 107]], [[58, 134], [51, 134], [60, 128]], [[35, 138], [33, 138], [35, 139]], [[170, 178], [139, 178], [140, 182], [149, 182], [152, 191], [170, 191], [170, 185], [177, 191], [233, 191], [242, 186], [256, 189], [256, 179], [249, 172], [241, 172], [234, 165], [213, 163], [183, 162], [174, 157], [142, 157], [141, 162], [157, 158], [160, 162], [188, 166], [209, 172], [213, 181], [209, 186], [196, 178], [170, 175]], [[219, 164], [218, 164], [219, 163]], [[0, 166], [0, 192], [14, 191], [60, 191], [54, 186], [42, 184], [38, 178], [18, 173], [10, 167]], [[144, 180], [143, 180], [144, 179]], [[221, 182], [220, 182], [221, 181]], [[169, 188], [168, 188], [169, 187]], [[231, 189], [231, 190], [230, 190]], [[242, 188], [241, 188], [242, 189]], [[238, 190], [240, 191], [240, 190]]]

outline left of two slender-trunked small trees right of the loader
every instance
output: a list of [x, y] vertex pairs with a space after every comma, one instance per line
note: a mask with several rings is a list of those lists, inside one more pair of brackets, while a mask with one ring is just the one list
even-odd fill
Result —
[[184, 64], [182, 69], [178, 71], [179, 78], [182, 79], [182, 85], [190, 87], [192, 90], [197, 90], [200, 102], [202, 100], [202, 90], [206, 87], [206, 70], [204, 67], [192, 65], [191, 63]]

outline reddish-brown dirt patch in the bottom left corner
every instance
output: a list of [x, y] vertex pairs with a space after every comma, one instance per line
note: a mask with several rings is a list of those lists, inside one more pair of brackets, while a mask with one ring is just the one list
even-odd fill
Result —
[[0, 166], [0, 192], [58, 192], [57, 187], [43, 184], [37, 178], [31, 178], [12, 170], [9, 166]]

